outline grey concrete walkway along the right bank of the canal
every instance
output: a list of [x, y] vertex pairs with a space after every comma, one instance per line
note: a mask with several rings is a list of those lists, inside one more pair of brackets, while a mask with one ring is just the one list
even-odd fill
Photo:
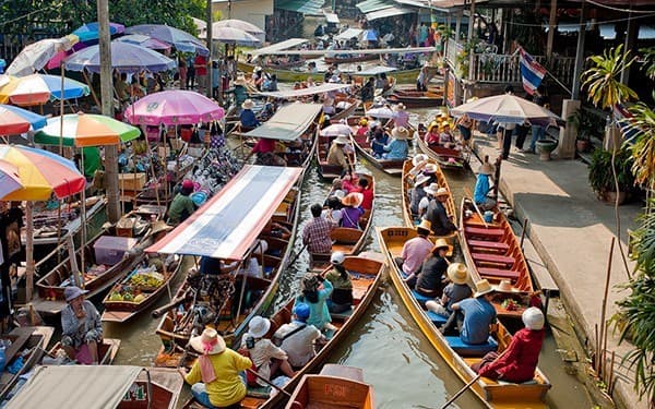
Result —
[[[529, 136], [525, 145], [528, 143]], [[496, 147], [496, 137], [490, 140], [485, 134], [476, 134], [475, 151], [480, 158], [489, 155], [493, 163], [499, 156]], [[596, 199], [587, 175], [587, 166], [581, 161], [541, 161], [538, 155], [523, 154], [512, 146], [510, 158], [501, 166], [500, 190], [514, 207], [516, 217], [528, 219], [528, 237], [559, 286], [579, 337], [594, 345], [616, 224], [614, 206]], [[640, 212], [640, 204], [620, 206], [621, 245], [626, 252], [626, 231], [634, 228]], [[616, 302], [626, 294], [620, 285], [627, 280], [621, 255], [615, 246], [608, 318], [617, 311]], [[607, 349], [617, 352], [615, 375], [618, 375], [618, 382], [614, 393], [617, 402], [620, 407], [646, 408], [632, 388], [632, 373], [620, 365], [630, 346], [619, 346], [618, 337], [612, 336], [610, 329]]]

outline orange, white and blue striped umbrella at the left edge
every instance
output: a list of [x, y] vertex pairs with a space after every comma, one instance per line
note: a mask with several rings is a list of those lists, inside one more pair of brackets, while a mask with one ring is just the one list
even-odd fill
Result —
[[91, 93], [88, 86], [79, 81], [63, 79], [61, 93], [61, 76], [32, 74], [27, 76], [10, 76], [7, 84], [0, 87], [0, 104], [33, 106], [46, 104], [52, 99], [74, 99]]

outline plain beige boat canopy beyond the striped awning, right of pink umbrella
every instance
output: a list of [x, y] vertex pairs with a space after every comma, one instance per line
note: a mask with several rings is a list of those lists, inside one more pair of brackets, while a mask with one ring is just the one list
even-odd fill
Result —
[[278, 141], [295, 141], [312, 124], [321, 109], [320, 104], [294, 103], [277, 109], [266, 122], [245, 136], [267, 137]]

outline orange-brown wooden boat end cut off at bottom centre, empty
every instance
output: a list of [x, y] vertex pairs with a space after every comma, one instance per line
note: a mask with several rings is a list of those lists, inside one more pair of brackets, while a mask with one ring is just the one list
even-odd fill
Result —
[[373, 409], [373, 387], [359, 368], [326, 363], [318, 375], [305, 375], [285, 409]]

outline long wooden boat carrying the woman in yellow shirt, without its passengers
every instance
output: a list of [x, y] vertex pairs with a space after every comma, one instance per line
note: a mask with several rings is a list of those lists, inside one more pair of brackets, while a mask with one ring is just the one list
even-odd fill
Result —
[[[357, 321], [364, 316], [368, 305], [373, 300], [376, 289], [380, 285], [385, 265], [372, 258], [359, 256], [346, 257], [344, 266], [353, 277], [353, 310], [341, 314], [332, 314], [332, 325], [337, 327], [332, 338], [319, 350], [303, 368], [296, 372], [296, 375], [283, 387], [287, 393], [291, 393], [296, 385], [306, 374], [315, 372], [325, 361], [330, 353], [337, 348], [348, 336]], [[291, 320], [291, 310], [294, 298], [289, 300], [284, 308], [271, 316], [270, 334], [273, 334], [283, 324]], [[278, 393], [270, 395], [269, 388], [249, 388], [248, 396], [241, 401], [241, 408], [271, 409], [279, 408], [287, 398], [286, 395]], [[193, 400], [187, 402], [184, 408], [196, 408]]]

